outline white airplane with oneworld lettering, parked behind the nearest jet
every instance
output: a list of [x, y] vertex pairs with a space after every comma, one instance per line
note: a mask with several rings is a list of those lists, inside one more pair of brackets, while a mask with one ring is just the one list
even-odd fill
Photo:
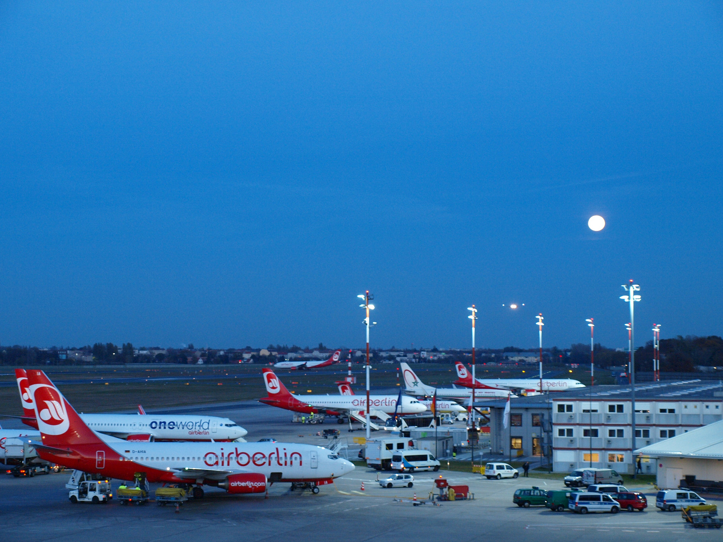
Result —
[[[15, 369], [17, 389], [20, 391], [22, 403], [22, 423], [38, 429], [35, 419], [35, 405], [33, 396], [27, 384], [25, 369]], [[80, 417], [93, 431], [115, 436], [132, 442], [147, 442], [149, 440], [174, 441], [209, 441], [231, 442], [243, 440], [247, 430], [228, 418], [216, 416], [189, 416], [176, 414], [145, 414], [142, 406], [138, 405], [138, 414], [85, 414]], [[241, 442], [241, 441], [239, 441]]]

